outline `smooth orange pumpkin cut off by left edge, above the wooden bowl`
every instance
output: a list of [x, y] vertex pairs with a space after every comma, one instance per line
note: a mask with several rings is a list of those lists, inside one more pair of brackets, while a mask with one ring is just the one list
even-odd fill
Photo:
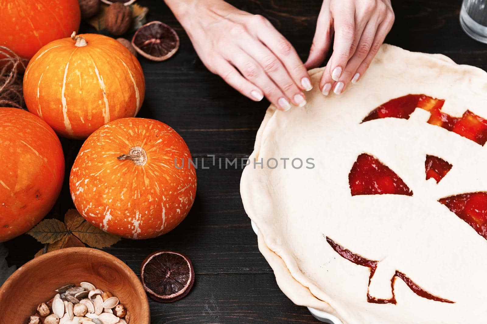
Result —
[[28, 111], [0, 108], [0, 242], [30, 230], [51, 210], [64, 178], [61, 143]]

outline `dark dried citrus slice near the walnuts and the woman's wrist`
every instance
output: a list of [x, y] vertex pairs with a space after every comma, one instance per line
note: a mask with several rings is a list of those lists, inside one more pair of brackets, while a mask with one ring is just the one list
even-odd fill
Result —
[[135, 32], [132, 46], [150, 60], [164, 61], [178, 50], [179, 36], [165, 23], [151, 21]]

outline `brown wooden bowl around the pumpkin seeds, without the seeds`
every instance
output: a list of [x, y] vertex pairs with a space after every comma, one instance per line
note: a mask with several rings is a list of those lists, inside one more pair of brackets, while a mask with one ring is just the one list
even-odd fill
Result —
[[131, 324], [150, 324], [147, 295], [135, 273], [106, 252], [66, 248], [41, 255], [20, 267], [0, 287], [0, 324], [27, 323], [37, 305], [57, 288], [87, 281], [110, 291], [131, 313]]

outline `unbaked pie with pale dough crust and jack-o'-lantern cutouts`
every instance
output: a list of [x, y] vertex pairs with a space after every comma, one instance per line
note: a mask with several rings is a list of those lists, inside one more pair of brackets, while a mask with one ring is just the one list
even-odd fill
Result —
[[268, 108], [241, 180], [279, 287], [344, 324], [479, 323], [487, 73], [391, 45], [339, 96], [322, 72], [306, 106]]

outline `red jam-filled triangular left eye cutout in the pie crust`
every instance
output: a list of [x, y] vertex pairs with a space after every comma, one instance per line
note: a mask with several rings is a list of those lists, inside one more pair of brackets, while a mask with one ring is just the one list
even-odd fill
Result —
[[395, 194], [412, 196], [404, 181], [369, 154], [360, 154], [348, 175], [352, 196]]

